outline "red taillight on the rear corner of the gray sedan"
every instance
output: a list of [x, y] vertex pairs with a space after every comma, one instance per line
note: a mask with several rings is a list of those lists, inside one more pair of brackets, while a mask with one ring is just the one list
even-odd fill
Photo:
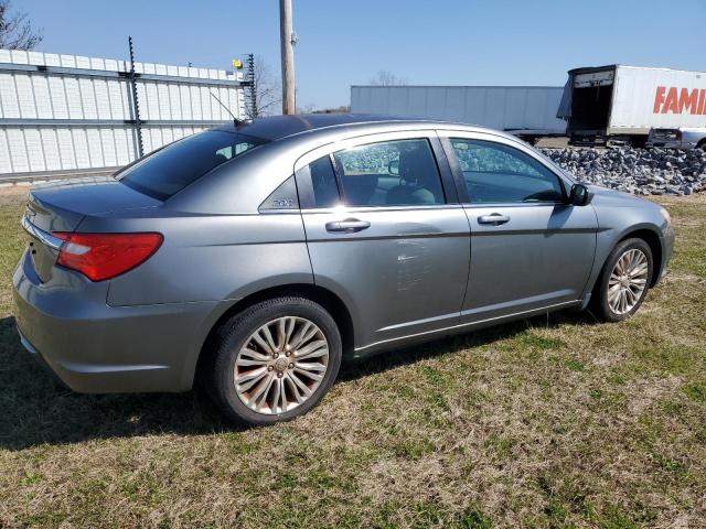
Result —
[[103, 281], [132, 270], [154, 253], [164, 239], [161, 234], [53, 235], [64, 240], [56, 262], [92, 281]]

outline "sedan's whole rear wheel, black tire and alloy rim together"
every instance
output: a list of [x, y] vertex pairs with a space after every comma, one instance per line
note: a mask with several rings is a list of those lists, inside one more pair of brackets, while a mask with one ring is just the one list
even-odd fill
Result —
[[303, 298], [268, 300], [222, 328], [208, 390], [235, 421], [287, 421], [321, 400], [341, 356], [341, 335], [321, 305]]

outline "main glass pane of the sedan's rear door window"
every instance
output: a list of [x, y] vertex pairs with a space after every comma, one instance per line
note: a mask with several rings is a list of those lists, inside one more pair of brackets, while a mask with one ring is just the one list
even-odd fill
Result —
[[333, 154], [350, 206], [443, 204], [443, 190], [426, 139], [386, 141]]

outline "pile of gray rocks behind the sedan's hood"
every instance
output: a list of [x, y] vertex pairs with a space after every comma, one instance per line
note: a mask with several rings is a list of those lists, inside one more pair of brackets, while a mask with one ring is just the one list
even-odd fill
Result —
[[706, 151], [693, 149], [539, 149], [584, 182], [640, 195], [706, 191]]

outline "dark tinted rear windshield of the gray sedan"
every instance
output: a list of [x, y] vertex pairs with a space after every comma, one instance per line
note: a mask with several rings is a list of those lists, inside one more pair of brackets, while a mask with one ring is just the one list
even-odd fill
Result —
[[266, 140], [206, 130], [176, 141], [116, 175], [140, 193], [165, 201], [214, 168], [265, 143]]

